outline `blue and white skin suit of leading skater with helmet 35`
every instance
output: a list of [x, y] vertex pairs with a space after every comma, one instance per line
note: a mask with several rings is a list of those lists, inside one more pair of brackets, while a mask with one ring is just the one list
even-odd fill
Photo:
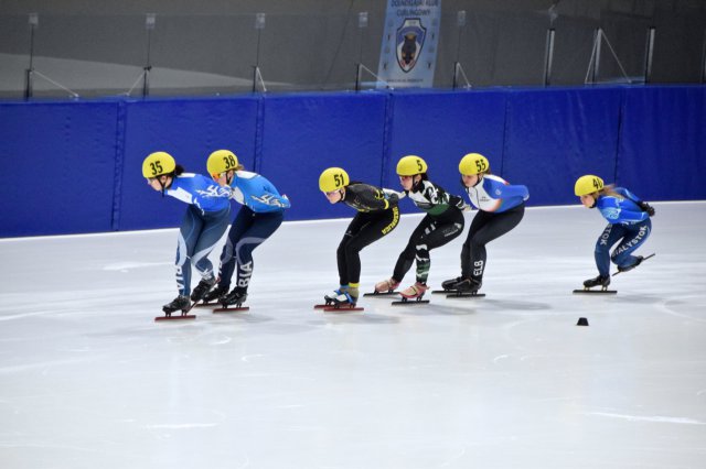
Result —
[[213, 277], [208, 254], [228, 228], [231, 190], [210, 177], [183, 173], [174, 176], [164, 194], [189, 204], [179, 228], [176, 286], [180, 295], [191, 293], [191, 264], [203, 279]]

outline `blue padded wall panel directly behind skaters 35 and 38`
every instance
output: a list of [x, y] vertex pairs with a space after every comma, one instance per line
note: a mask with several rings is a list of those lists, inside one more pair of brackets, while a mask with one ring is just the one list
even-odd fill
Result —
[[149, 153], [165, 151], [186, 172], [206, 174], [211, 152], [227, 149], [252, 170], [258, 102], [257, 98], [128, 102], [118, 228], [181, 222], [185, 205], [171, 197], [162, 199], [142, 177], [142, 160]]

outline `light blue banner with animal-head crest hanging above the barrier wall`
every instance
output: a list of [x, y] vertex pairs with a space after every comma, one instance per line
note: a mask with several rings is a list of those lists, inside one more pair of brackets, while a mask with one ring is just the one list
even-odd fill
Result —
[[434, 86], [441, 0], [387, 0], [378, 87]]

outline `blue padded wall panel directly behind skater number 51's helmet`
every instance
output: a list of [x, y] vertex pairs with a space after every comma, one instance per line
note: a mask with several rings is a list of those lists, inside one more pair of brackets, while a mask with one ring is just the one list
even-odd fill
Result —
[[330, 94], [266, 97], [258, 172], [287, 194], [287, 219], [352, 217], [331, 206], [319, 175], [343, 167], [352, 181], [379, 184], [386, 96]]

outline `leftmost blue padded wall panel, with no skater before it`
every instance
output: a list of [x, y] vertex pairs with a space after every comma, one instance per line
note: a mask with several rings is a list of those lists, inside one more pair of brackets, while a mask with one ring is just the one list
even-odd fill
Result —
[[109, 231], [117, 105], [0, 106], [0, 236]]

